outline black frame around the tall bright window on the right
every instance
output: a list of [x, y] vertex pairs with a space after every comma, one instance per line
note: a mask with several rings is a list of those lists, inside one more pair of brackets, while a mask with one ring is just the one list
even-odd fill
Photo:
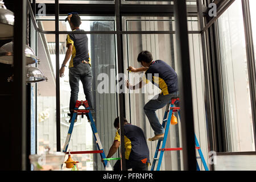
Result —
[[[253, 115], [253, 127], [254, 127], [254, 142], [256, 148], [256, 78], [255, 78], [255, 57], [254, 57], [254, 47], [253, 47], [253, 37], [251, 30], [251, 20], [250, 20], [250, 10], [249, 10], [249, 1], [242, 1], [242, 11], [243, 11], [243, 23], [245, 27], [245, 41], [246, 41], [246, 55], [247, 55], [247, 68], [249, 73], [249, 85], [250, 85], [250, 97], [251, 97], [251, 111]], [[218, 12], [221, 15], [232, 3], [230, 1], [214, 1], [218, 2]], [[208, 1], [210, 3], [210, 1]], [[208, 121], [208, 125], [213, 126], [213, 143], [210, 143], [212, 148], [215, 148], [214, 151], [217, 152], [228, 152], [228, 140], [226, 134], [226, 119], [225, 119], [225, 104], [223, 96], [223, 85], [222, 85], [222, 71], [221, 71], [221, 55], [220, 55], [220, 45], [218, 44], [218, 24], [216, 22], [217, 18], [220, 17], [217, 15], [216, 18], [209, 19], [208, 24], [203, 29], [203, 32], [207, 33], [207, 47], [208, 47], [208, 59], [212, 63], [210, 67], [210, 78], [212, 79], [212, 90], [210, 90], [210, 97], [213, 110], [213, 120], [211, 123]], [[211, 23], [211, 24], [210, 24]], [[202, 32], [202, 33], [203, 33]]]

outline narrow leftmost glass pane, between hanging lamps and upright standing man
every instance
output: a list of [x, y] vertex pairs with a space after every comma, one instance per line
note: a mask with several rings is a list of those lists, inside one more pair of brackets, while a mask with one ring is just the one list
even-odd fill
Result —
[[55, 35], [38, 34], [38, 68], [48, 81], [37, 83], [37, 154], [49, 146], [56, 151], [56, 84], [55, 84], [55, 49], [45, 47], [45, 43], [55, 42]]

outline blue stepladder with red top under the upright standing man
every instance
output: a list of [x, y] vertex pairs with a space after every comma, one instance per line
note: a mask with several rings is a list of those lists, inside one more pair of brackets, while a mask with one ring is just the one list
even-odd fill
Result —
[[[84, 106], [85, 109], [79, 109], [80, 106]], [[99, 153], [101, 155], [101, 159], [105, 159], [106, 158], [105, 152], [102, 147], [101, 140], [98, 135], [97, 128], [95, 126], [95, 123], [94, 123], [94, 120], [92, 117], [92, 113], [90, 113], [90, 110], [91, 109], [89, 108], [88, 101], [76, 101], [76, 106], [75, 106], [74, 113], [73, 113], [71, 123], [69, 126], [68, 135], [65, 140], [64, 147], [63, 147], [63, 152], [67, 153], [69, 140], [71, 138], [71, 134], [73, 131], [73, 127], [74, 127], [74, 123], [75, 123], [75, 119], [77, 118], [77, 115], [82, 115], [82, 117], [83, 117], [84, 114], [88, 113], [88, 116], [89, 116], [88, 121], [90, 122], [90, 126], [92, 127], [93, 136], [94, 136], [94, 139], [96, 140], [97, 147], [98, 147], [98, 151], [90, 151], [90, 153]], [[73, 153], [74, 154], [89, 154], [89, 152], [73, 152]], [[104, 160], [104, 167], [106, 167], [107, 163], [108, 163], [108, 161]]]

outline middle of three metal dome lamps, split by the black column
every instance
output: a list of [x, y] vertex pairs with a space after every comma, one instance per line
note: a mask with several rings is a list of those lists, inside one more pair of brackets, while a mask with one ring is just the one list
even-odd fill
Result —
[[[38, 63], [39, 59], [34, 51], [25, 45], [26, 64]], [[0, 63], [13, 64], [13, 41], [3, 45], [0, 48]]]

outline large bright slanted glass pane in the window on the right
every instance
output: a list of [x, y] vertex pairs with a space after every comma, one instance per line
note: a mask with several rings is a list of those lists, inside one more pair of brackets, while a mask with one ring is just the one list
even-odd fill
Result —
[[228, 151], [254, 151], [241, 1], [218, 19]]

